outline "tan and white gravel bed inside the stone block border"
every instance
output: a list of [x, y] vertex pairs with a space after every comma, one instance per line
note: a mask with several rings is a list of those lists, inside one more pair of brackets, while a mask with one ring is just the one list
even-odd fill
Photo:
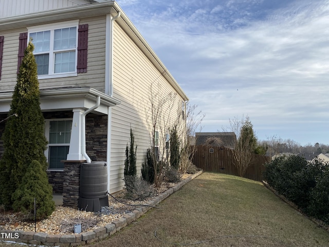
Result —
[[[157, 195], [174, 185], [174, 183], [163, 183], [161, 188], [157, 189]], [[145, 201], [125, 200], [122, 196], [123, 192], [116, 195], [120, 201], [126, 204], [145, 205]], [[109, 210], [107, 211], [107, 214], [56, 206], [56, 209], [47, 219], [36, 222], [36, 232], [44, 232], [47, 234], [73, 234], [73, 226], [75, 223], [79, 222], [83, 222], [82, 232], [93, 231], [95, 228], [112, 223], [126, 213], [131, 213], [136, 207], [138, 207], [120, 203], [110, 196], [108, 196], [108, 204]], [[34, 232], [34, 221], [26, 221], [24, 220], [24, 217], [25, 216], [22, 213], [0, 210], [0, 230]]]

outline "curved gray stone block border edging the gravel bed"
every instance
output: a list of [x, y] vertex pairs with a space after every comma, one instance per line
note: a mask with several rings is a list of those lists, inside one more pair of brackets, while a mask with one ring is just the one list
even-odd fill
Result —
[[[169, 197], [172, 193], [179, 190], [183, 185], [196, 178], [202, 172], [203, 171], [199, 171], [193, 174], [191, 177], [181, 181], [173, 188], [166, 190], [165, 192], [147, 201], [146, 203], [152, 206], [156, 206], [161, 201]], [[132, 213], [126, 214], [118, 220], [115, 220], [112, 223], [109, 223], [103, 227], [96, 228], [93, 232], [85, 232], [81, 234], [53, 235], [47, 233], [1, 230], [0, 241], [13, 241], [17, 243], [47, 246], [78, 246], [83, 244], [89, 244], [115, 234], [117, 231], [120, 231], [123, 227], [145, 214], [151, 208], [152, 207], [149, 206], [136, 207], [136, 209]]]

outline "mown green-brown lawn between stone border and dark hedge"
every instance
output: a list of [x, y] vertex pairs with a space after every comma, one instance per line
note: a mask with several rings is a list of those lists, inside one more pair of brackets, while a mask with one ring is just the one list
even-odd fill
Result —
[[329, 246], [328, 232], [262, 183], [231, 175], [205, 172], [159, 206], [92, 246]]

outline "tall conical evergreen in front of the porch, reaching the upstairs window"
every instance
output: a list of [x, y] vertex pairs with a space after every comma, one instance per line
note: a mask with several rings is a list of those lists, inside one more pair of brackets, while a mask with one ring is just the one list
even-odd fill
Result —
[[[12, 194], [19, 188], [28, 166], [39, 161], [46, 171], [44, 117], [40, 109], [37, 65], [30, 41], [25, 50], [3, 133], [4, 154], [0, 161], [0, 198], [6, 208], [13, 205]], [[45, 185], [47, 186], [47, 185]]]

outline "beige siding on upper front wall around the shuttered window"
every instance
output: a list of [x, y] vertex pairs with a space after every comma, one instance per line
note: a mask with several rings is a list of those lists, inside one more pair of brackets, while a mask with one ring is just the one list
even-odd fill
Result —
[[[72, 77], [52, 79], [39, 79], [40, 89], [49, 89], [66, 86], [93, 87], [105, 91], [105, 23], [106, 16], [96, 16], [81, 19], [80, 24], [88, 24], [88, 57], [87, 73]], [[2, 78], [0, 91], [13, 91], [16, 84], [17, 55], [19, 49], [19, 36], [27, 29], [0, 31], [4, 36]]]

